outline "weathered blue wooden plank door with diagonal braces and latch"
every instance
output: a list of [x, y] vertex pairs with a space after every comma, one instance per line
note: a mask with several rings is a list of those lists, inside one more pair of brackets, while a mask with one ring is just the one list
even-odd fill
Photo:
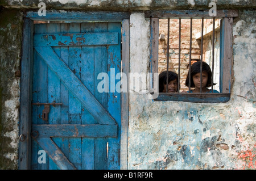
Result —
[[120, 168], [121, 96], [97, 90], [110, 70], [121, 23], [34, 25], [31, 169]]

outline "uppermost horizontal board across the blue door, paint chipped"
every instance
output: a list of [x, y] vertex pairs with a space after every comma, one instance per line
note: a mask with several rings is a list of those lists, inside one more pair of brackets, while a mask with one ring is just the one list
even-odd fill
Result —
[[[79, 23], [77, 23], [79, 24]], [[115, 45], [118, 44], [117, 32], [104, 33], [47, 33], [34, 36], [36, 46], [83, 46], [83, 45]]]

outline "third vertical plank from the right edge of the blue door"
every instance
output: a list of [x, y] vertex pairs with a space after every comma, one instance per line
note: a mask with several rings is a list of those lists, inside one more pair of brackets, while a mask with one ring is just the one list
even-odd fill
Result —
[[[92, 33], [94, 23], [81, 23], [82, 33]], [[81, 81], [94, 95], [94, 47], [84, 46], [81, 48]], [[82, 106], [82, 124], [96, 124], [97, 121], [84, 106]], [[94, 138], [82, 137], [82, 169], [94, 169]]]

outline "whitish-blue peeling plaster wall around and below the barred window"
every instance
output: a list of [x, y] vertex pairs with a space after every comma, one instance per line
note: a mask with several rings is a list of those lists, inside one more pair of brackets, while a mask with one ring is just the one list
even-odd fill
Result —
[[[129, 169], [256, 169], [254, 13], [240, 11], [234, 20], [228, 103], [154, 102], [130, 94]], [[143, 17], [130, 18], [131, 72], [149, 65], [149, 20]]]

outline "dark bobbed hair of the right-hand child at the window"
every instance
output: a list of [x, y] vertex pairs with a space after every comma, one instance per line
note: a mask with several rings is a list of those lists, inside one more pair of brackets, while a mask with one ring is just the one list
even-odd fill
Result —
[[[212, 86], [212, 71], [210, 70], [210, 66], [206, 62], [202, 62], [202, 72], [206, 72], [208, 74], [208, 80], [207, 80], [207, 87]], [[195, 84], [193, 82], [193, 75], [200, 73], [200, 61], [195, 62], [191, 65], [191, 87], [195, 87]], [[185, 85], [188, 87], [189, 85], [189, 71], [187, 75], [187, 79], [185, 82]], [[216, 83], [213, 83], [213, 85], [216, 85]]]

